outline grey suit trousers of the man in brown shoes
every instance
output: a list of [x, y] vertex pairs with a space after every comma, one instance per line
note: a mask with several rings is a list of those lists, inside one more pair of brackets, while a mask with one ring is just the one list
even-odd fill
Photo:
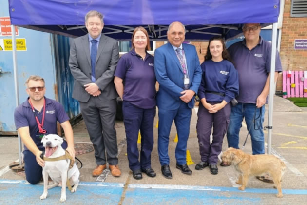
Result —
[[101, 101], [98, 97], [91, 96], [88, 102], [79, 103], [95, 149], [97, 165], [106, 162], [116, 165], [118, 163], [115, 130], [116, 99]]

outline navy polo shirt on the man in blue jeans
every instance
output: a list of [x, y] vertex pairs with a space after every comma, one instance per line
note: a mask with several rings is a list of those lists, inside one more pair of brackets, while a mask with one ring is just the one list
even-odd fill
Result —
[[[239, 75], [238, 102], [256, 103], [271, 69], [272, 44], [260, 36], [259, 43], [251, 50], [245, 39], [232, 44], [228, 51]], [[282, 71], [279, 53], [276, 50], [275, 71]], [[267, 98], [268, 102], [268, 98]]]

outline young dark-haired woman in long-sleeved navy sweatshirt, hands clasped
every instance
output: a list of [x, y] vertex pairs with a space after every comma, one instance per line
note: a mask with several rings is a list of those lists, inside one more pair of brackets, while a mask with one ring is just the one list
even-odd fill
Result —
[[[195, 169], [202, 170], [209, 165], [211, 174], [217, 174], [217, 156], [222, 151], [223, 138], [230, 122], [229, 102], [239, 90], [238, 73], [221, 37], [213, 37], [209, 41], [201, 68], [203, 76], [198, 89], [201, 103], [196, 124], [201, 161]], [[212, 126], [213, 139], [210, 144]]]

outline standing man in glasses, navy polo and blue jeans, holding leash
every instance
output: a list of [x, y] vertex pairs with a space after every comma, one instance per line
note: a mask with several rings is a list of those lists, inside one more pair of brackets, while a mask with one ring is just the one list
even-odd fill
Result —
[[[228, 49], [239, 75], [239, 95], [236, 97], [238, 104], [231, 108], [227, 131], [228, 147], [239, 149], [239, 132], [245, 118], [251, 136], [252, 153], [264, 154], [262, 124], [265, 104], [268, 102], [272, 46], [260, 36], [259, 23], [244, 24], [242, 30], [245, 39]], [[282, 67], [276, 51], [275, 82], [279, 71], [282, 71]]]

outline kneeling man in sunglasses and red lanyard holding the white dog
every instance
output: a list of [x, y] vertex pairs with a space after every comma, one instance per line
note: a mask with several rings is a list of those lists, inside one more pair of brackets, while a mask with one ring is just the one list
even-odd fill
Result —
[[42, 178], [45, 165], [40, 155], [44, 151], [41, 139], [47, 134], [57, 134], [60, 123], [65, 138], [62, 147], [75, 158], [74, 133], [64, 107], [57, 101], [44, 97], [45, 81], [39, 76], [30, 76], [26, 81], [29, 97], [14, 112], [17, 131], [24, 143], [23, 161], [26, 179], [30, 184], [37, 184]]

